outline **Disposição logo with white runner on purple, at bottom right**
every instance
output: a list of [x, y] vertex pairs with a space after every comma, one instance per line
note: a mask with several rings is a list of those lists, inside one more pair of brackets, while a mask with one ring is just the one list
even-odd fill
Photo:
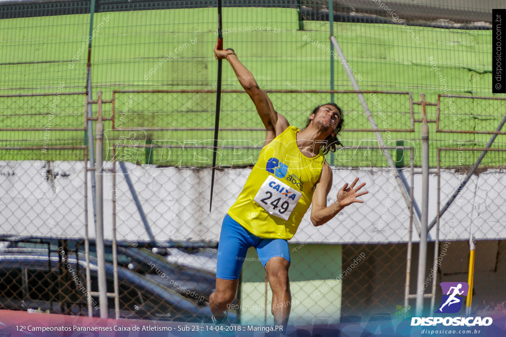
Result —
[[[469, 284], [467, 282], [441, 282], [443, 298], [439, 309], [435, 313], [454, 314], [460, 311], [464, 299], [468, 296]], [[491, 317], [412, 317], [411, 326], [437, 325], [446, 326], [488, 326], [492, 324]]]

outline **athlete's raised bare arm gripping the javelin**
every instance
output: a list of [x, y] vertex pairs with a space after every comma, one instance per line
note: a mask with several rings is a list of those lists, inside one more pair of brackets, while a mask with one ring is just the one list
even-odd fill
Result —
[[257, 112], [264, 123], [265, 129], [267, 130], [266, 140], [273, 139], [283, 132], [290, 124], [283, 115], [278, 114], [274, 110], [272, 102], [267, 97], [265, 91], [258, 86], [251, 72], [239, 61], [235, 52], [232, 49], [218, 50], [217, 44], [215, 46], [215, 57], [217, 59], [226, 59], [232, 66], [232, 69], [234, 69], [239, 83], [241, 83], [242, 87], [255, 104]]

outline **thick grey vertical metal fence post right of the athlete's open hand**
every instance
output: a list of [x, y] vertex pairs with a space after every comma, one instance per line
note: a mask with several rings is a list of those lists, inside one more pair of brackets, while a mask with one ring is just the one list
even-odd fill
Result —
[[425, 109], [425, 93], [421, 94], [421, 111], [423, 125], [421, 125], [421, 219], [420, 219], [420, 246], [418, 247], [418, 278], [416, 283], [416, 315], [421, 316], [424, 309], [423, 285], [427, 266], [427, 222], [429, 211], [429, 125], [427, 125], [427, 112]]

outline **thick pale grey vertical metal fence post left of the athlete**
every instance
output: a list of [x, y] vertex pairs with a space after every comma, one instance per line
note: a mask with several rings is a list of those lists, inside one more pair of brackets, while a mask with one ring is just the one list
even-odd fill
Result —
[[104, 160], [104, 123], [102, 123], [102, 92], [98, 92], [98, 120], [97, 120], [97, 162], [95, 172], [97, 173], [97, 226], [96, 226], [96, 248], [98, 264], [98, 299], [100, 306], [100, 318], [107, 318], [107, 279], [105, 274], [105, 248], [104, 248], [104, 223], [103, 223], [103, 160]]

